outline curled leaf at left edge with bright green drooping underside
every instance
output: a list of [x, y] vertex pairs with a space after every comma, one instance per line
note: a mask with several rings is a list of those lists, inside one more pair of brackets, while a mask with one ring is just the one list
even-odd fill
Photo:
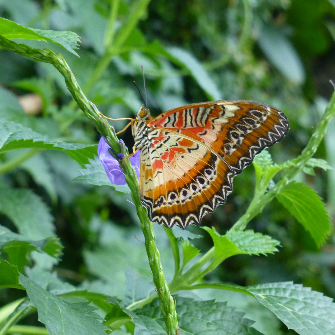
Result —
[[27, 263], [27, 256], [31, 251], [46, 252], [48, 255], [59, 259], [62, 254], [62, 246], [59, 239], [51, 237], [41, 241], [31, 241], [23, 235], [16, 234], [6, 227], [0, 226], [0, 250], [8, 254], [11, 264], [22, 271], [23, 266]]

